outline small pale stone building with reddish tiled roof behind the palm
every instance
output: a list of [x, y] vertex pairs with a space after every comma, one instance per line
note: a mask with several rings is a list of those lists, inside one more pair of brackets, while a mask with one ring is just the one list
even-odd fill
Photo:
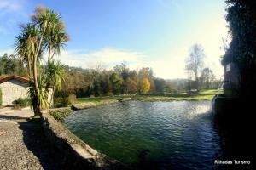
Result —
[[[10, 76], [0, 79], [2, 105], [14, 105], [16, 99], [28, 98], [29, 80], [26, 77]], [[48, 102], [52, 104], [52, 89], [49, 89]]]

